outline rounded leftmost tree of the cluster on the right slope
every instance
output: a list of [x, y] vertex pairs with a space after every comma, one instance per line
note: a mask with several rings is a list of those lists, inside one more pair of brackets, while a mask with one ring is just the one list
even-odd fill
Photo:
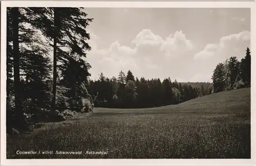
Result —
[[215, 70], [214, 75], [212, 75], [212, 85], [213, 85], [213, 92], [220, 92], [224, 90], [225, 87], [225, 70], [224, 64], [219, 63]]

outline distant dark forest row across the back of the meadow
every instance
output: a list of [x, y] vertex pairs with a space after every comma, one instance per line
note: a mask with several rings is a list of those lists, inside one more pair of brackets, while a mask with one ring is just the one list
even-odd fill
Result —
[[95, 96], [95, 107], [148, 108], [179, 104], [211, 93], [211, 83], [179, 83], [170, 78], [146, 80], [135, 78], [131, 70], [125, 75], [90, 81], [89, 93]]

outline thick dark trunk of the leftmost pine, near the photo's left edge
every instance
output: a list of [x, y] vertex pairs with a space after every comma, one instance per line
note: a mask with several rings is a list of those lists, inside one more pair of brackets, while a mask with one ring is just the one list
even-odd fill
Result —
[[14, 68], [14, 103], [15, 103], [15, 125], [19, 131], [25, 128], [25, 116], [22, 108], [20, 79], [19, 79], [19, 40], [18, 40], [18, 25], [19, 25], [19, 9], [13, 8], [13, 68]]

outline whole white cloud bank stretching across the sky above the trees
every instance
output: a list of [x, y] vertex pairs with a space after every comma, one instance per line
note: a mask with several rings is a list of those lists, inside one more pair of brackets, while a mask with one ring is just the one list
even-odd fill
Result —
[[90, 43], [95, 46], [88, 53], [87, 61], [92, 65], [92, 79], [98, 79], [101, 72], [111, 78], [117, 76], [120, 70], [126, 74], [130, 69], [135, 77], [144, 76], [146, 79], [163, 80], [170, 77], [178, 81], [211, 81], [212, 72], [218, 63], [231, 56], [237, 56], [238, 59], [244, 57], [250, 45], [249, 31], [231, 34], [220, 38], [219, 43], [207, 44], [191, 61], [193, 55], [192, 59], [188, 55], [193, 50], [193, 44], [182, 31], [163, 40], [151, 30], [142, 30], [132, 40], [134, 46], [121, 45], [115, 41], [106, 49], [98, 49], [96, 45], [100, 39], [95, 34], [91, 36]]

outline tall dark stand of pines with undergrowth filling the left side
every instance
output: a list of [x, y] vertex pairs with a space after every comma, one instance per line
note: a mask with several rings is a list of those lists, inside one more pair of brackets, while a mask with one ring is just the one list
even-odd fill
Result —
[[84, 60], [93, 19], [81, 9], [7, 8], [8, 134], [93, 109]]

